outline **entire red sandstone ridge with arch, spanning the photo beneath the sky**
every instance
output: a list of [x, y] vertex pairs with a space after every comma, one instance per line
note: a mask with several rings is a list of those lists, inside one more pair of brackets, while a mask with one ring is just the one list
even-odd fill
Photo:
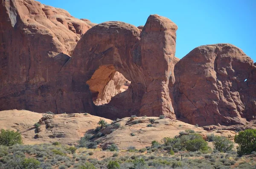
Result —
[[0, 3], [0, 110], [131, 115], [192, 124], [256, 117], [256, 64], [230, 44], [175, 57], [177, 26], [91, 23], [34, 0]]

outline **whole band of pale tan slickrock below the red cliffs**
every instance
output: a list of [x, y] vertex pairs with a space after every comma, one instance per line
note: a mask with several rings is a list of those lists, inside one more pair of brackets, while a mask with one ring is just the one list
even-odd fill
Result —
[[[93, 133], [96, 126], [99, 126], [97, 123], [100, 118], [83, 113], [49, 115], [26, 110], [6, 110], [0, 111], [0, 129], [19, 131], [25, 144], [58, 141], [62, 144], [73, 145], [77, 144], [85, 133]], [[155, 119], [153, 127], [147, 127], [151, 118]], [[144, 148], [150, 146], [153, 140], [160, 141], [163, 137], [175, 137], [186, 129], [195, 130], [203, 137], [214, 133], [232, 139], [236, 132], [231, 130], [256, 128], [256, 123], [250, 123], [245, 126], [209, 126], [212, 130], [207, 131], [207, 128], [204, 130], [179, 120], [159, 119], [158, 117], [125, 117], [115, 122], [103, 119], [111, 123], [110, 126], [99, 131], [105, 136], [95, 137], [100, 141], [99, 146], [103, 149], [111, 143], [116, 143], [119, 149], [127, 149], [128, 146], [135, 146], [137, 149]], [[35, 123], [40, 123], [41, 126], [36, 129]], [[135, 136], [131, 136], [131, 133]]]

